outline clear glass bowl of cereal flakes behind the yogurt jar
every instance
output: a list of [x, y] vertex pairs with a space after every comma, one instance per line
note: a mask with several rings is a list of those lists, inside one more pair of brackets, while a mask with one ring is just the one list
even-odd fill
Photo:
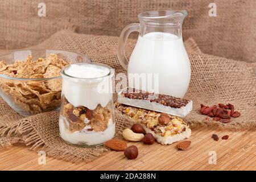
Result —
[[[8, 67], [9, 64], [13, 64], [15, 61], [26, 61], [28, 55], [32, 56], [33, 62], [39, 61], [39, 58], [46, 59], [51, 53], [57, 55], [58, 60], [62, 59], [72, 63], [91, 62], [85, 55], [57, 49], [23, 49], [0, 55], [0, 96], [17, 113], [22, 115], [34, 115], [44, 111], [60, 109], [62, 78], [59, 73], [59, 68], [64, 64], [60, 65], [59, 62], [55, 62], [53, 58], [49, 59], [52, 61], [47, 67], [43, 67], [44, 70], [42, 71], [42, 74], [45, 71], [44, 74], [49, 75], [47, 78], [40, 78], [40, 75], [36, 78], [26, 78], [12, 76], [11, 74], [17, 74], [15, 73], [18, 72], [16, 70], [11, 71], [11, 74], [8, 76], [2, 75], [1, 71], [6, 68], [2, 61], [5, 61]], [[21, 72], [30, 72], [32, 69], [33, 71], [40, 69], [40, 67], [33, 66], [32, 63], [31, 65], [31, 67], [22, 68]], [[49, 67], [51, 67], [51, 69]], [[18, 67], [15, 67], [14, 69], [17, 68]], [[9, 67], [8, 69], [13, 68]], [[55, 76], [51, 77], [51, 74]]]

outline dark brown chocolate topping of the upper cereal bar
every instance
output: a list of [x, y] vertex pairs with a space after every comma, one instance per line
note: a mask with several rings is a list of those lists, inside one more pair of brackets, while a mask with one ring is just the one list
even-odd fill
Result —
[[186, 106], [189, 100], [172, 97], [164, 94], [155, 94], [150, 92], [143, 92], [142, 90], [127, 88], [126, 93], [122, 91], [122, 96], [130, 99], [147, 100], [150, 102], [156, 102], [164, 106], [180, 108]]

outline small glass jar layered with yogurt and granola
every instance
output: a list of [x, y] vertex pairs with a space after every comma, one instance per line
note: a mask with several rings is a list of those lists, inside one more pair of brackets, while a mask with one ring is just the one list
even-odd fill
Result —
[[98, 63], [61, 69], [60, 137], [68, 143], [95, 146], [114, 137], [114, 69]]

